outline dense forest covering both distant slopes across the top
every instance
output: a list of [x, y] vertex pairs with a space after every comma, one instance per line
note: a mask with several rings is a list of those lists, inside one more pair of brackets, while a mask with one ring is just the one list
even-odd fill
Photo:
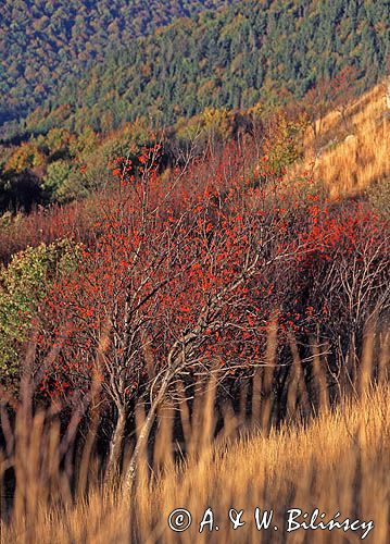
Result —
[[2, 8], [0, 89], [7, 98], [0, 120], [39, 104], [18, 131], [62, 125], [106, 132], [141, 115], [169, 124], [206, 107], [247, 108], [280, 89], [301, 97], [345, 64], [367, 88], [389, 54], [386, 0], [234, 2], [138, 39], [175, 15], [226, 2], [154, 1], [143, 10], [128, 0], [93, 9], [79, 0], [66, 9], [63, 2], [29, 3], [28, 10], [25, 2]]

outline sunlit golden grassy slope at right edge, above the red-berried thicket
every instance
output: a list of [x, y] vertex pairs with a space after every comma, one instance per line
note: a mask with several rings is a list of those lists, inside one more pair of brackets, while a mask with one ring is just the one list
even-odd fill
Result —
[[311, 131], [305, 137], [304, 163], [314, 164], [314, 177], [331, 198], [355, 195], [390, 173], [390, 118], [386, 112], [385, 86], [377, 85], [355, 103], [348, 115], [348, 129], [340, 113], [323, 120], [322, 141], [331, 143], [319, 156]]

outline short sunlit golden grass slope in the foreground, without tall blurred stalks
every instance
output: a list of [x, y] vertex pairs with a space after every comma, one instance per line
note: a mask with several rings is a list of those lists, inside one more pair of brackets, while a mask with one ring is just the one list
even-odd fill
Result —
[[[165, 450], [165, 470], [148, 482], [144, 463], [131, 492], [104, 489], [79, 499], [65, 510], [36, 505], [30, 519], [14, 520], [2, 528], [2, 543], [194, 543], [194, 542], [357, 542], [362, 530], [284, 531], [286, 509], [312, 512], [318, 507], [331, 519], [337, 511], [347, 517], [374, 520], [368, 542], [388, 542], [390, 493], [390, 404], [389, 388], [369, 390], [360, 400], [344, 401], [325, 410], [311, 424], [273, 430], [221, 441], [207, 446], [213, 423], [211, 404], [203, 403], [198, 415], [198, 455], [180, 467], [169, 462], [169, 424], [161, 425], [160, 446]], [[171, 410], [161, 421], [169, 423]], [[234, 428], [235, 418], [227, 420]], [[206, 431], [209, 428], [209, 433]], [[164, 442], [166, 440], [166, 442]], [[165, 445], [164, 445], [165, 444]], [[197, 449], [197, 448], [196, 448]], [[160, 454], [161, 455], [161, 452]], [[175, 533], [167, 518], [175, 508], [192, 514], [187, 532]], [[213, 509], [214, 531], [199, 523], [207, 507]], [[244, 527], [234, 531], [229, 508], [244, 509]], [[274, 509], [272, 528], [257, 531], [254, 508]], [[219, 530], [215, 530], [218, 524]], [[279, 531], [273, 527], [279, 526]], [[305, 540], [306, 539], [306, 540]]]

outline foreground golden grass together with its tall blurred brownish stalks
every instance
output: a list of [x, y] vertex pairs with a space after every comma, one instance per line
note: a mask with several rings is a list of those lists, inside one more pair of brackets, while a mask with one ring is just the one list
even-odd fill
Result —
[[[344, 385], [340, 373], [332, 391], [339, 398], [334, 408], [325, 354], [313, 346], [307, 387], [304, 362], [291, 336], [287, 420], [279, 428], [272, 425], [276, 399], [266, 385], [272, 384], [277, 369], [276, 332], [276, 327], [271, 329], [266, 364], [257, 368], [253, 378], [250, 419], [247, 394], [240, 395], [238, 410], [219, 403], [222, 419], [216, 417], [217, 370], [207, 384], [199, 383], [191, 410], [179, 394], [178, 382], [176, 399], [166, 398], [159, 408], [153, 447], [141, 447], [135, 478], [118, 477], [104, 484], [99, 483], [99, 461], [92, 455], [98, 421], [91, 418], [84, 448], [74, 456], [74, 443], [67, 435], [75, 428], [70, 423], [65, 433], [60, 432], [55, 405], [33, 413], [26, 372], [21, 404], [14, 407], [14, 424], [4, 416], [4, 398], [0, 406], [7, 438], [5, 448], [0, 449], [0, 507], [7, 507], [7, 489], [2, 489], [5, 471], [13, 467], [16, 479], [13, 508], [0, 512], [1, 544], [345, 543], [358, 542], [367, 533], [369, 527], [361, 527], [362, 522], [374, 522], [369, 542], [386, 544], [390, 521], [388, 327], [367, 323], [358, 372]], [[138, 437], [144, 416], [144, 408], [138, 406]], [[178, 419], [181, 444], [177, 442]], [[64, 453], [68, 455], [62, 463]], [[125, 475], [127, 466], [125, 459]], [[186, 532], [168, 527], [169, 514], [178, 508], [192, 516]], [[206, 526], [200, 533], [207, 508], [213, 510], [213, 531]], [[241, 521], [246, 524], [237, 530], [229, 520], [231, 508], [244, 510]], [[255, 508], [274, 511], [267, 530], [257, 530]], [[318, 508], [326, 516], [325, 523], [336, 512], [340, 512], [340, 522], [345, 518], [360, 522], [355, 532], [288, 532], [290, 508], [310, 512], [309, 517]]]

